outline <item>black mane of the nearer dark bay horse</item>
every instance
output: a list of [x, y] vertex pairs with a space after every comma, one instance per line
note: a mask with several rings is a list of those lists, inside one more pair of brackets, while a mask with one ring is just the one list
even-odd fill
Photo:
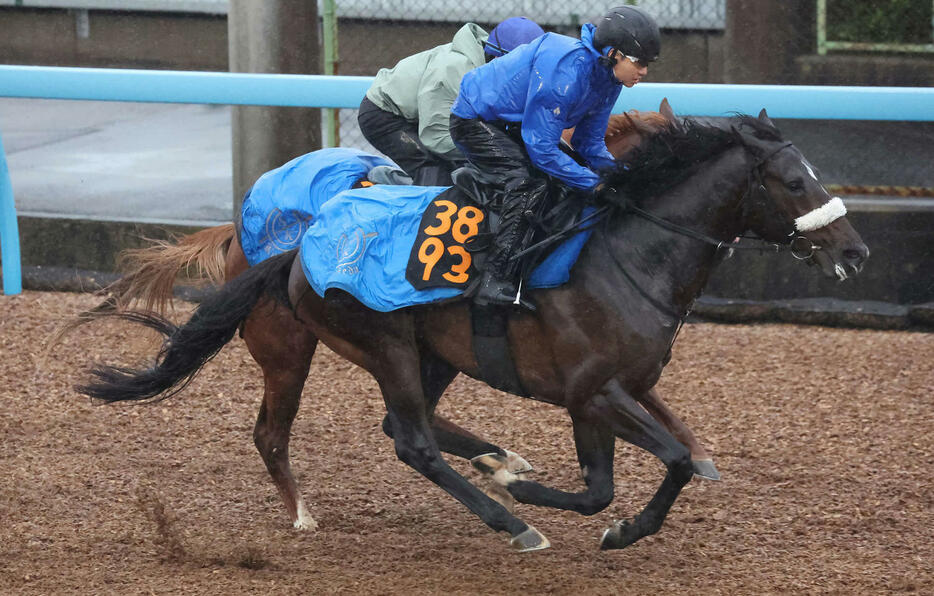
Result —
[[684, 118], [665, 122], [646, 137], [617, 167], [605, 173], [608, 184], [620, 189], [630, 200], [643, 200], [677, 186], [690, 177], [699, 164], [735, 147], [740, 141], [733, 129], [765, 141], [781, 141], [781, 133], [771, 122], [737, 115], [726, 122]]

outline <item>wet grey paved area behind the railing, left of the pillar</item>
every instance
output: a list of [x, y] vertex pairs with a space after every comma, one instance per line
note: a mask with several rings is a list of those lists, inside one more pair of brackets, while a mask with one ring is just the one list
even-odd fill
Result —
[[21, 215], [229, 221], [226, 106], [0, 99]]

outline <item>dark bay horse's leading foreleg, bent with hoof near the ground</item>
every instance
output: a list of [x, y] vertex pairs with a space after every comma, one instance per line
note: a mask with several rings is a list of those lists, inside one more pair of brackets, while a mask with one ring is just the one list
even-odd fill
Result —
[[623, 548], [662, 527], [669, 509], [693, 475], [691, 453], [652, 418], [615, 379], [587, 406], [589, 418], [608, 425], [613, 433], [662, 460], [665, 479], [649, 504], [632, 521], [620, 521], [603, 534], [601, 549]]

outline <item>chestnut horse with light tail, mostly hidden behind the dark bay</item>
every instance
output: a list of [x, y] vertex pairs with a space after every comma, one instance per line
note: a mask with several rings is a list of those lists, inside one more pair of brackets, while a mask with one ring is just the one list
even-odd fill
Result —
[[[643, 138], [658, 132], [673, 122], [675, 116], [667, 101], [659, 112], [636, 112], [614, 115], [606, 134], [607, 146], [614, 156], [622, 156]], [[570, 135], [568, 134], [568, 138]], [[204, 280], [221, 284], [232, 280], [249, 268], [246, 256], [233, 224], [216, 226], [181, 238], [177, 243], [160, 242], [153, 247], [127, 251], [123, 255], [126, 274], [105, 288], [108, 298], [100, 305], [82, 313], [62, 330], [81, 322], [128, 309], [134, 302], [144, 310], [165, 313], [172, 297], [173, 286], [180, 270], [187, 270], [189, 281]], [[308, 375], [317, 337], [296, 326], [294, 316], [286, 306], [264, 300], [242, 326], [241, 335], [264, 377], [264, 394], [253, 432], [254, 442], [265, 463], [293, 526], [313, 528], [301, 491], [291, 471], [289, 436], [298, 412], [301, 389]], [[282, 338], [288, 337], [283, 343]], [[668, 408], [654, 389], [640, 397], [640, 403], [678, 440], [691, 451], [695, 473], [718, 479], [719, 472], [706, 450], [691, 430]], [[433, 433], [442, 451], [467, 459], [486, 454], [506, 457], [508, 471], [522, 473], [531, 469], [520, 456], [435, 415]], [[384, 430], [391, 432], [387, 417]], [[509, 505], [508, 493], [494, 495]]]

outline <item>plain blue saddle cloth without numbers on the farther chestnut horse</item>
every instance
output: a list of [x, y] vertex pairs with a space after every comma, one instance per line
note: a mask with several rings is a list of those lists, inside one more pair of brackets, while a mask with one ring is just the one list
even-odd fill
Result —
[[266, 172], [243, 199], [240, 243], [252, 266], [298, 246], [321, 205], [392, 161], [335, 147], [296, 157]]

